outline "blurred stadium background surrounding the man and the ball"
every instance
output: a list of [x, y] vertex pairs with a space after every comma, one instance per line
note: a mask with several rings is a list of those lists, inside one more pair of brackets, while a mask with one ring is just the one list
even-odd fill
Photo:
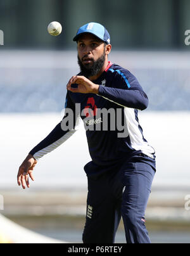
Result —
[[[66, 83], [79, 72], [72, 41], [77, 29], [98, 22], [111, 35], [111, 62], [136, 75], [149, 97], [139, 121], [156, 150], [157, 172], [146, 212], [151, 240], [190, 242], [189, 10], [189, 0], [0, 2], [0, 214], [27, 232], [82, 243], [83, 167], [91, 160], [84, 127], [39, 161], [30, 189], [18, 188], [16, 175], [28, 152], [63, 117]], [[47, 33], [53, 21], [63, 26], [58, 37]], [[22, 242], [23, 230], [8, 229], [14, 225], [8, 219], [0, 218], [0, 241]], [[116, 242], [125, 243], [122, 222]]]

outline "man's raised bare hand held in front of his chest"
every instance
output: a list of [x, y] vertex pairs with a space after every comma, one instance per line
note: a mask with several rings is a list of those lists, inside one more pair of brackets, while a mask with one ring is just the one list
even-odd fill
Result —
[[[72, 88], [72, 84], [78, 84], [77, 88]], [[66, 85], [66, 89], [71, 91], [72, 93], [94, 93], [98, 94], [99, 85], [94, 84], [91, 80], [86, 77], [75, 75], [72, 77], [68, 84]]]

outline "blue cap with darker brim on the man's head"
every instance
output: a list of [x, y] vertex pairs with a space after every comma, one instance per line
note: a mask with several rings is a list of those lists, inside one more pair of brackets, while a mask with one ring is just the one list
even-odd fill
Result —
[[96, 35], [96, 37], [101, 39], [103, 42], [106, 42], [106, 44], [110, 44], [110, 34], [106, 28], [99, 23], [91, 22], [80, 27], [80, 29], [77, 31], [77, 35], [73, 38], [73, 41], [78, 41], [80, 35], [84, 33]]

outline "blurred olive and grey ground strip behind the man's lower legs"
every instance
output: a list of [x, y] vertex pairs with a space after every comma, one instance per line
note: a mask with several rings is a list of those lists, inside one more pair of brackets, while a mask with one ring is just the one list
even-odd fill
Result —
[[[35, 233], [56, 240], [70, 243], [82, 243], [84, 215], [49, 215], [49, 216], [8, 216], [12, 221], [27, 227]], [[187, 221], [146, 222], [152, 243], [190, 243], [190, 224]], [[115, 243], [126, 243], [124, 225], [121, 221]]]

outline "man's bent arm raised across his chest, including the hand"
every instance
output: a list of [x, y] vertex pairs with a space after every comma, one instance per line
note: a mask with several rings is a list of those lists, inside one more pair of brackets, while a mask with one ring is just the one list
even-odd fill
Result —
[[[73, 88], [72, 84], [78, 87]], [[99, 86], [86, 77], [75, 76], [68, 82], [67, 89], [72, 93], [94, 93], [127, 108], [144, 110], [148, 107], [148, 96], [132, 74], [127, 79], [127, 75], [116, 72], [113, 87]]]

